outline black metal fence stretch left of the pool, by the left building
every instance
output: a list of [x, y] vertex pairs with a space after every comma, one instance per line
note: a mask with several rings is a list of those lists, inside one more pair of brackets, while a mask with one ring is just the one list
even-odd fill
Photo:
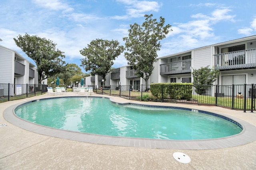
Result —
[[0, 84], [0, 103], [47, 92], [46, 84]]

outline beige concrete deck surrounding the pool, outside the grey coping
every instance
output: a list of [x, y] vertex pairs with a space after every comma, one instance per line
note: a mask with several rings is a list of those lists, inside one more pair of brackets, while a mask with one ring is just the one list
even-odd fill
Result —
[[[68, 92], [66, 96], [78, 95]], [[113, 96], [98, 94], [93, 94], [93, 96], [104, 96], [119, 103], [135, 102]], [[0, 127], [0, 169], [256, 169], [255, 140], [240, 146], [210, 150], [148, 149], [143, 147], [101, 145], [34, 133], [6, 121], [3, 117], [4, 111], [13, 105], [49, 97], [57, 96], [44, 94], [0, 104], [0, 124], [3, 124]], [[254, 128], [256, 126], [256, 113], [251, 113], [250, 111], [244, 113], [243, 111], [215, 106], [160, 102], [135, 103], [186, 107], [224, 113], [229, 117], [245, 121], [253, 125]], [[254, 134], [254, 137], [256, 136], [256, 131], [251, 131], [250, 133]], [[65, 138], [65, 134], [57, 133], [58, 135], [64, 135]], [[235, 139], [231, 143], [236, 143], [236, 141]], [[189, 146], [190, 144], [186, 145]], [[176, 161], [172, 156], [174, 152], [187, 154], [190, 156], [191, 162], [183, 164]]]

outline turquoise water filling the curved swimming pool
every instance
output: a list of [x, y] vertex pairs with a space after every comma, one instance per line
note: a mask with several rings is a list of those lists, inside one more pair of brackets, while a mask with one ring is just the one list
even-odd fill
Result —
[[33, 123], [84, 133], [151, 139], [214, 139], [242, 129], [220, 117], [185, 109], [118, 105], [102, 98], [52, 98], [16, 107]]

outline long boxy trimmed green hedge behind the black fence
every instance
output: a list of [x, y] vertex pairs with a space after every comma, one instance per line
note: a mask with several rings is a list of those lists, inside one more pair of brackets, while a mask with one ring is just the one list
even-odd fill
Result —
[[190, 100], [192, 87], [192, 83], [153, 83], [150, 84], [150, 91], [157, 98]]

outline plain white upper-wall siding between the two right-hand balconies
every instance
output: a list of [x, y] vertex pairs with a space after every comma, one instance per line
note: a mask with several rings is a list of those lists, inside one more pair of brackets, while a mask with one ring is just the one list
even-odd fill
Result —
[[205, 49], [198, 49], [194, 51], [192, 68], [198, 69], [205, 66], [212, 67], [212, 55], [211, 55], [211, 47]]

